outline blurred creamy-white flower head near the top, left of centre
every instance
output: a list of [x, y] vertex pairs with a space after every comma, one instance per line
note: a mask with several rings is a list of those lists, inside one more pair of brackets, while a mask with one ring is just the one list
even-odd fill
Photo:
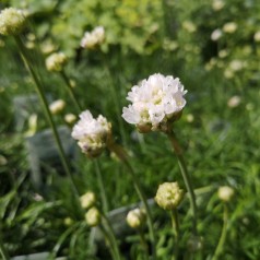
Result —
[[85, 32], [81, 40], [81, 47], [85, 49], [93, 49], [105, 40], [105, 29], [103, 26], [97, 26], [92, 32]]

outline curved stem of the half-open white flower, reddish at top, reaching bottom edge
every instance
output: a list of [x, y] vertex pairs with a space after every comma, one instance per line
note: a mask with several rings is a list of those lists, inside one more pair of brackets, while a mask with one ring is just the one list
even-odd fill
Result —
[[118, 158], [129, 169], [128, 173], [130, 174], [130, 176], [132, 178], [134, 189], [137, 190], [137, 193], [138, 193], [140, 200], [142, 201], [142, 203], [144, 205], [144, 210], [145, 210], [146, 215], [147, 215], [147, 225], [149, 225], [150, 239], [151, 239], [151, 244], [152, 244], [152, 253], [153, 253], [153, 259], [156, 259], [155, 232], [154, 232], [154, 227], [153, 227], [151, 210], [150, 210], [150, 206], [147, 204], [147, 199], [145, 198], [145, 196], [144, 196], [144, 193], [141, 189], [141, 185], [139, 182], [139, 179], [137, 178], [135, 173], [134, 173], [131, 164], [128, 161], [128, 155], [127, 155], [126, 151], [123, 150], [123, 147], [116, 144], [114, 141], [110, 141], [110, 143], [108, 142], [108, 149], [111, 152], [114, 152], [118, 156]]

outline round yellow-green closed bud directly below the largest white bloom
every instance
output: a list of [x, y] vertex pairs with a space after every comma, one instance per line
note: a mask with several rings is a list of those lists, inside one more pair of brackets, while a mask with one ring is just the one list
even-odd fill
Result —
[[164, 210], [174, 210], [182, 201], [184, 194], [178, 182], [164, 182], [158, 187], [155, 201]]

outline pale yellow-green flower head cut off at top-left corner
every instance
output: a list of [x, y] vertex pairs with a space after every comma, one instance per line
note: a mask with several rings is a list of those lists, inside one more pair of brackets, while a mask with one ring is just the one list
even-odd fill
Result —
[[17, 35], [25, 25], [25, 15], [22, 10], [7, 8], [0, 13], [0, 34]]

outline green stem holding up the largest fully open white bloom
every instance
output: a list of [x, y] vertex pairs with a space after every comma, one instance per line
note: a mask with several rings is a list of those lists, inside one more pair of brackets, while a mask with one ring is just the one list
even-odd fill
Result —
[[180, 167], [180, 173], [182, 175], [185, 185], [186, 185], [186, 189], [188, 190], [189, 193], [189, 198], [190, 198], [190, 205], [191, 205], [191, 211], [192, 211], [192, 227], [193, 227], [193, 233], [194, 235], [197, 235], [197, 204], [196, 204], [196, 194], [193, 191], [193, 187], [192, 187], [192, 181], [191, 178], [188, 174], [187, 167], [186, 167], [186, 163], [182, 156], [182, 151], [180, 149], [180, 145], [176, 139], [176, 135], [173, 131], [167, 132], [167, 135], [172, 142], [172, 145], [174, 147], [174, 151], [176, 153], [176, 156], [178, 158], [178, 164]]

